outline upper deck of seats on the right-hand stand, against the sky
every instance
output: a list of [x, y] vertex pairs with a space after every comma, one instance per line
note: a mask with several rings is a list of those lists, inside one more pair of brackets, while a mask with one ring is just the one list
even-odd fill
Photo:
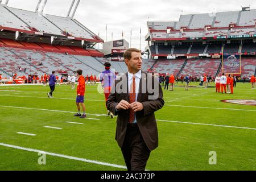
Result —
[[147, 22], [148, 41], [255, 38], [256, 9], [180, 15], [177, 22]]

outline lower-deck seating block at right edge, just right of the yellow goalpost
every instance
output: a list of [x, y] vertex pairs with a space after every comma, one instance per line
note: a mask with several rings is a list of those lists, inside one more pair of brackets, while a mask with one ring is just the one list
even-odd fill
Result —
[[249, 58], [242, 58], [241, 59], [241, 76], [249, 77], [254, 75], [256, 71], [256, 58], [249, 57]]

